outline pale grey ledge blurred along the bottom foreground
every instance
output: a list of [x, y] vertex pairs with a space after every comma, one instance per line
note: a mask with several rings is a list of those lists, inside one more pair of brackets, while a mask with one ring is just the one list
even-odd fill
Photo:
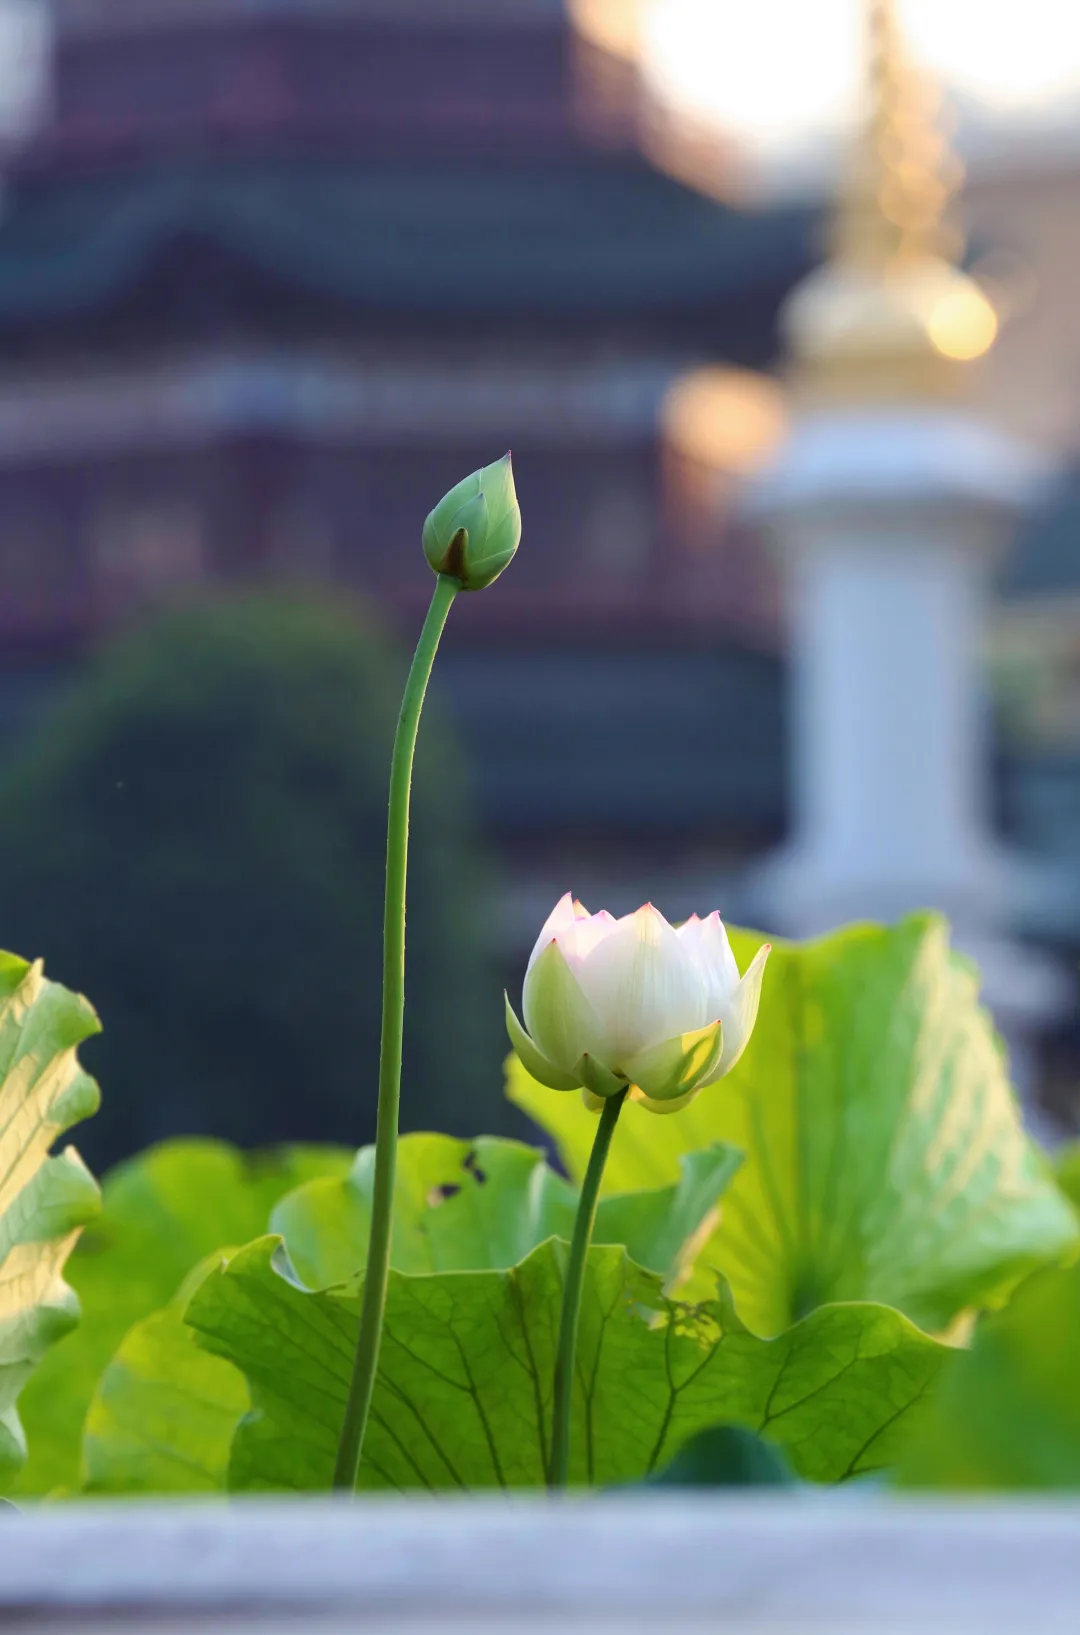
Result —
[[0, 1627], [1075, 1635], [1080, 1499], [42, 1506], [0, 1516]]

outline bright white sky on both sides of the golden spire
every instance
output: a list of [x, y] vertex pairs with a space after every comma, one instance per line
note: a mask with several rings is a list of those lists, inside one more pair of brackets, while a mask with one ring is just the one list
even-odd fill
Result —
[[[623, 0], [578, 7], [593, 18], [616, 8]], [[812, 170], [855, 116], [861, 10], [861, 0], [640, 0], [640, 52], [665, 101], [722, 126], [765, 178], [783, 181]], [[1080, 141], [1080, 0], [897, 0], [897, 11], [975, 144]]]

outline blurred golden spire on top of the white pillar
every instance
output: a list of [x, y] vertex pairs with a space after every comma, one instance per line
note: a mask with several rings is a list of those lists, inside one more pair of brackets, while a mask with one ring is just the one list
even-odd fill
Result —
[[944, 211], [961, 167], [939, 96], [905, 57], [892, 0], [866, 0], [869, 114], [840, 190], [828, 260], [784, 307], [796, 386], [866, 402], [949, 394], [997, 334], [982, 289], [956, 267]]

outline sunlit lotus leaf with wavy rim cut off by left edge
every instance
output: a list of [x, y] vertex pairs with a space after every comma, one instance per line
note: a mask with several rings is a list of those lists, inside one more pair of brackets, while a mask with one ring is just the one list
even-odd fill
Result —
[[28, 1382], [78, 1321], [62, 1274], [98, 1187], [74, 1148], [49, 1148], [98, 1109], [77, 1058], [96, 1032], [91, 1006], [47, 981], [41, 961], [0, 953], [0, 1488], [26, 1457]]

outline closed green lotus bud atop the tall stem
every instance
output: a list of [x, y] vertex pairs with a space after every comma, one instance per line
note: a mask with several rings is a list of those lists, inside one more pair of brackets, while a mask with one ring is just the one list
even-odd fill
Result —
[[423, 554], [462, 590], [498, 579], [521, 540], [510, 455], [474, 471], [446, 494], [423, 525]]

